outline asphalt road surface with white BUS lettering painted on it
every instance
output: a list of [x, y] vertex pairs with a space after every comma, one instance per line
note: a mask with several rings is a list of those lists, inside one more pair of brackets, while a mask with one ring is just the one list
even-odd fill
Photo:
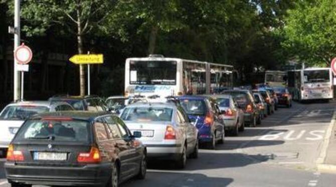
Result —
[[[279, 108], [255, 128], [226, 137], [216, 150], [176, 170], [171, 162], [149, 164], [145, 180], [122, 186], [334, 186], [336, 174], [316, 171], [335, 103], [294, 103]], [[0, 160], [0, 186], [9, 186]]]

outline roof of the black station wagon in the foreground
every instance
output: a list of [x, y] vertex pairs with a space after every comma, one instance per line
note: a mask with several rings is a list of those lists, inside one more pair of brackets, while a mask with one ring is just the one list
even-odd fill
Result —
[[39, 119], [43, 117], [52, 117], [52, 118], [64, 118], [64, 117], [71, 117], [73, 119], [78, 120], [94, 120], [95, 118], [103, 115], [111, 114], [108, 111], [79, 111], [79, 110], [69, 110], [69, 111], [58, 111], [58, 112], [47, 112], [47, 113], [41, 113], [37, 114], [31, 117], [31, 119]]

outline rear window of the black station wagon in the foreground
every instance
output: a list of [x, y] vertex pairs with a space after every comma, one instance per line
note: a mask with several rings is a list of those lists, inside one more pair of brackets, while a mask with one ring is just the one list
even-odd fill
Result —
[[89, 122], [83, 120], [28, 120], [16, 137], [25, 139], [53, 139], [59, 141], [89, 140]]

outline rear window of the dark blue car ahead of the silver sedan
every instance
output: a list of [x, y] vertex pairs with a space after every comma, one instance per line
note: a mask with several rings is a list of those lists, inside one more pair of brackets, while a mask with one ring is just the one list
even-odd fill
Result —
[[207, 107], [204, 100], [200, 99], [182, 99], [181, 106], [189, 115], [205, 115]]

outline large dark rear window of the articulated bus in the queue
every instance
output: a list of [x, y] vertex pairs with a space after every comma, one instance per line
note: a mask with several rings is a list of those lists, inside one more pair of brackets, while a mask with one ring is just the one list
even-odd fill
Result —
[[130, 61], [129, 70], [130, 84], [176, 84], [176, 61]]

